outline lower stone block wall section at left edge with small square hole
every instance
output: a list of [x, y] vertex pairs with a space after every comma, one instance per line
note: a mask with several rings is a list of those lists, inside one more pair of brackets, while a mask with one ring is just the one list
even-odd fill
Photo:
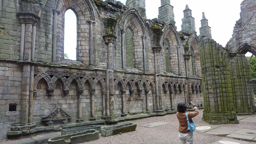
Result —
[[[7, 138], [11, 124], [20, 123], [22, 67], [0, 62], [0, 139]], [[9, 105], [16, 111], [9, 111]]]

